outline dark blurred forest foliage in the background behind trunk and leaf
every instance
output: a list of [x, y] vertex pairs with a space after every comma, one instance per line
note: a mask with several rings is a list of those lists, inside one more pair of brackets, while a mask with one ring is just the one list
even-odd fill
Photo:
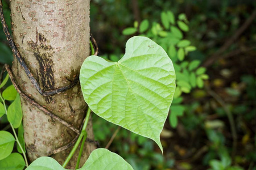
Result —
[[[90, 18], [99, 56], [118, 61], [131, 36], [147, 36], [166, 50], [177, 75], [164, 155], [150, 139], [94, 115], [101, 147], [135, 170], [256, 169], [255, 1], [92, 0]], [[0, 66], [12, 60], [1, 30]]]

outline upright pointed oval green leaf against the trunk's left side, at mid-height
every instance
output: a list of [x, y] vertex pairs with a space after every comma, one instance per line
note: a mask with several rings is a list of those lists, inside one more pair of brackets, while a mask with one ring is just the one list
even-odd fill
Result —
[[16, 95], [16, 99], [11, 103], [7, 110], [7, 118], [14, 128], [19, 128], [19, 125], [22, 122], [22, 108], [19, 94]]

